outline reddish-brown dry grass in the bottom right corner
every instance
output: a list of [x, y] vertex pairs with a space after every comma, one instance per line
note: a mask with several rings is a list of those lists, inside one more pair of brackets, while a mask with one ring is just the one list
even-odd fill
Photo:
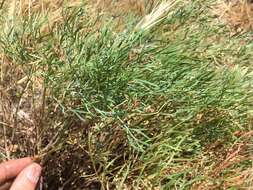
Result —
[[[201, 183], [194, 184], [191, 189], [252, 189], [253, 167], [250, 165], [252, 159], [252, 135], [252, 131], [238, 133], [237, 136], [240, 140], [235, 142], [229, 149], [224, 149], [220, 143], [217, 143], [212, 147], [212, 150], [206, 150], [207, 154], [213, 152], [215, 158], [213, 158], [211, 166], [201, 170], [204, 171], [206, 178]], [[249, 165], [243, 168], [245, 163]], [[238, 167], [240, 165], [242, 167]], [[215, 181], [214, 178], [219, 180]]]

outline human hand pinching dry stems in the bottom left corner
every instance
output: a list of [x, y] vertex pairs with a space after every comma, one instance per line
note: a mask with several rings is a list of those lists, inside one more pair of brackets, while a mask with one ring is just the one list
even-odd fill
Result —
[[0, 190], [35, 190], [41, 170], [31, 158], [4, 162], [0, 164]]

